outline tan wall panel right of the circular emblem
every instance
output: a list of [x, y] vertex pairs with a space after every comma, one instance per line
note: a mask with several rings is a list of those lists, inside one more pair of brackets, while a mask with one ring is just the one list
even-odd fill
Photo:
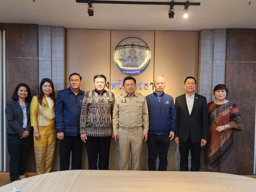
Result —
[[[187, 76], [197, 79], [198, 31], [156, 31], [154, 76], [164, 75], [165, 93], [176, 97], [185, 93]], [[171, 141], [167, 170], [179, 170], [179, 148]]]

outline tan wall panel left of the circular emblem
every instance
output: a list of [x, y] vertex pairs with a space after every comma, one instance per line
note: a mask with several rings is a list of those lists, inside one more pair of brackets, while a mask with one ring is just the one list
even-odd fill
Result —
[[69, 75], [82, 76], [81, 90], [94, 89], [93, 77], [106, 76], [110, 81], [110, 30], [67, 29], [66, 87]]

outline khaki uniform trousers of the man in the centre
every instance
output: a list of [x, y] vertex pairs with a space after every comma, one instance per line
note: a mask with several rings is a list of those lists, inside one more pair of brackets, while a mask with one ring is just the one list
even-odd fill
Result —
[[142, 151], [142, 127], [131, 132], [119, 127], [118, 134], [121, 170], [129, 170], [130, 151], [131, 170], [140, 170], [139, 159]]

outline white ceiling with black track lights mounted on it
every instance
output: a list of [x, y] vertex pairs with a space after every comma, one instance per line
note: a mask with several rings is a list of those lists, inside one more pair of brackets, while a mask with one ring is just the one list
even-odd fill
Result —
[[[186, 2], [186, 0], [175, 2]], [[75, 0], [35, 0], [35, 3], [32, 0], [0, 0], [0, 22], [116, 30], [193, 31], [214, 28], [256, 28], [256, 0], [251, 0], [251, 5], [248, 5], [249, 0], [191, 0], [190, 2], [200, 2], [201, 5], [189, 6], [189, 18], [182, 17], [184, 6], [174, 6], [174, 18], [169, 19], [168, 5], [93, 3], [94, 16], [89, 17], [87, 3], [76, 3]]]

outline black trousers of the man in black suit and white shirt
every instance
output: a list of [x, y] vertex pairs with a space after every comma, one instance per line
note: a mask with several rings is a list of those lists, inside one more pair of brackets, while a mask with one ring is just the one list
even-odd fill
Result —
[[200, 154], [201, 154], [201, 142], [193, 143], [189, 138], [186, 142], [179, 140], [179, 153], [181, 155], [180, 170], [189, 171], [189, 150], [191, 153], [191, 168], [190, 171], [200, 170]]

